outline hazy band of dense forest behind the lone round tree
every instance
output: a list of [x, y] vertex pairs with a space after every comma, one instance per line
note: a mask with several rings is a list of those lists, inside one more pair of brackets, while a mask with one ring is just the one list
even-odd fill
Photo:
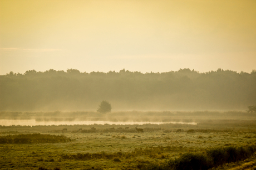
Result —
[[113, 111], [247, 110], [256, 104], [256, 70], [143, 74], [50, 69], [0, 75], [0, 111], [96, 111], [102, 100]]

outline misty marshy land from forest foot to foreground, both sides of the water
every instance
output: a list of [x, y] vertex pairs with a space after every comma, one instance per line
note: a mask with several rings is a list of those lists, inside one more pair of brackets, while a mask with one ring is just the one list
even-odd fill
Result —
[[[55, 116], [53, 113], [45, 113], [45, 117], [35, 117], [37, 113], [1, 112], [1, 117], [7, 121], [11, 119], [12, 114], [19, 115], [20, 119], [30, 117], [38, 121], [52, 121], [52, 119], [62, 121], [61, 116], [58, 116], [60, 113]], [[53, 118], [50, 119], [47, 114], [53, 115]], [[74, 121], [71, 119], [74, 113], [63, 113], [65, 114], [66, 121], [68, 119]], [[190, 116], [184, 119], [184, 115], [189, 114]], [[87, 113], [87, 118], [84, 120], [100, 121], [97, 119], [99, 115], [95, 114], [94, 117], [89, 115]], [[118, 114], [109, 114], [111, 115]], [[232, 159], [228, 164], [219, 163], [219, 167], [215, 168], [255, 168], [255, 114], [179, 112], [172, 115], [166, 112], [136, 112], [137, 117], [134, 117], [136, 121], [157, 122], [162, 117], [162, 123], [118, 125], [120, 120], [132, 120], [132, 117], [127, 117], [126, 114], [121, 115], [115, 117], [117, 121], [115, 125], [105, 123], [104, 125], [0, 126], [0, 167], [1, 169], [147, 169], [150, 167], [156, 169], [152, 166], [157, 166], [161, 169], [161, 165], [175, 158], [179, 160], [185, 154], [203, 156], [209, 153], [209, 150], [235, 151], [237, 148], [243, 151], [243, 157], [236, 158], [235, 161]], [[132, 115], [132, 112], [127, 115]], [[106, 120], [106, 116], [102, 119]], [[114, 117], [112, 119], [114, 121]], [[136, 127], [142, 128], [144, 132], [138, 132]], [[248, 148], [250, 153], [245, 152], [249, 150]]]

